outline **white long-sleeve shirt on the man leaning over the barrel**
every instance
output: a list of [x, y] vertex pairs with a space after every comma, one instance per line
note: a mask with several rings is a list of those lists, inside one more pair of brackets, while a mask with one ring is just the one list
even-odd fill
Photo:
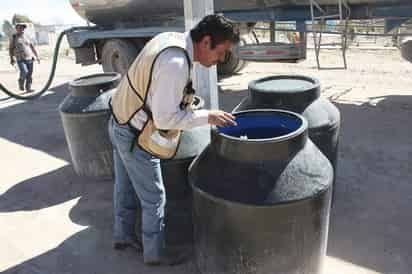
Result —
[[[185, 33], [186, 51], [193, 63], [193, 43], [189, 33]], [[208, 123], [208, 110], [185, 111], [180, 109], [183, 90], [188, 82], [188, 63], [182, 50], [170, 48], [162, 52], [153, 65], [152, 81], [146, 101], [153, 121], [159, 129], [190, 129]], [[190, 71], [191, 78], [192, 71]], [[130, 123], [141, 129], [147, 119], [142, 110], [137, 112]]]

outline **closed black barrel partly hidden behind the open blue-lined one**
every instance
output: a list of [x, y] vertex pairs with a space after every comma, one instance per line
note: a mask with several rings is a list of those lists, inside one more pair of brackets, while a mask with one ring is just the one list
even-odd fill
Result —
[[252, 81], [249, 83], [249, 96], [233, 112], [264, 108], [302, 114], [308, 120], [309, 138], [331, 161], [336, 174], [341, 117], [328, 99], [320, 97], [317, 79], [279, 75]]

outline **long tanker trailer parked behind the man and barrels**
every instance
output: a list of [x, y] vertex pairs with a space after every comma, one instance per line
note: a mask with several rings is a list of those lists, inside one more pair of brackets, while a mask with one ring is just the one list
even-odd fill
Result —
[[[337, 10], [339, 1], [351, 8], [351, 19], [394, 17], [394, 10], [412, 16], [410, 0], [315, 0], [325, 10]], [[71, 48], [75, 50], [76, 63], [99, 63], [105, 72], [124, 74], [145, 43], [156, 34], [165, 31], [184, 31], [183, 0], [70, 0], [74, 10], [94, 24], [87, 30], [68, 34]], [[310, 0], [215, 0], [216, 12], [237, 22], [241, 34], [249, 33], [258, 21], [296, 21], [297, 30], [306, 32], [305, 21], [311, 20]], [[410, 7], [410, 8], [408, 8]], [[306, 37], [299, 45], [274, 43], [259, 44], [262, 60], [304, 59]], [[273, 42], [273, 43], [272, 43]], [[243, 40], [244, 43], [244, 40]], [[284, 49], [283, 56], [272, 56]], [[265, 54], [267, 54], [265, 56]], [[239, 71], [245, 60], [240, 58], [239, 45], [218, 65], [219, 74]], [[243, 56], [243, 55], [242, 55]], [[250, 59], [248, 59], [250, 60]]]

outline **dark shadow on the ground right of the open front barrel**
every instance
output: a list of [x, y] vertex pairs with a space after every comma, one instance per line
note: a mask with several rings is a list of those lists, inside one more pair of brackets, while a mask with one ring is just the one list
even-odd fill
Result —
[[337, 104], [342, 134], [328, 255], [380, 273], [412, 269], [412, 96]]

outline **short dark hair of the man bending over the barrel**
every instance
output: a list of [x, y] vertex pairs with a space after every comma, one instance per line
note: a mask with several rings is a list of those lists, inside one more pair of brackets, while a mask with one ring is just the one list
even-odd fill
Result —
[[235, 30], [233, 23], [219, 14], [206, 15], [190, 31], [190, 36], [194, 42], [200, 42], [207, 35], [211, 38], [212, 49], [225, 41], [237, 44], [240, 40], [239, 33]]

